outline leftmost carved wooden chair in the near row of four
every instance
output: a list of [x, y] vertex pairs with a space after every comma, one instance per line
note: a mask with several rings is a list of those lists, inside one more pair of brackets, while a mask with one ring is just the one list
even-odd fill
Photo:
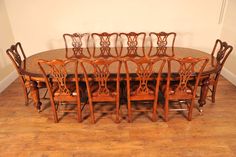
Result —
[[[39, 60], [38, 65], [44, 76], [49, 95], [54, 122], [58, 122], [58, 112], [77, 112], [81, 122], [80, 79], [77, 60]], [[83, 90], [84, 91], [84, 90]], [[61, 109], [62, 105], [75, 104], [77, 107]]]

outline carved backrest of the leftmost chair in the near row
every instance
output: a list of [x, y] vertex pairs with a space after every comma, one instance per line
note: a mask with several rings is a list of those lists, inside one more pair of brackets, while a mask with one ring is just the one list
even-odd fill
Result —
[[54, 92], [57, 96], [72, 96], [71, 84], [76, 88], [77, 100], [80, 100], [79, 79], [78, 79], [78, 61], [77, 60], [39, 60], [39, 67], [43, 73], [46, 85], [53, 100]]

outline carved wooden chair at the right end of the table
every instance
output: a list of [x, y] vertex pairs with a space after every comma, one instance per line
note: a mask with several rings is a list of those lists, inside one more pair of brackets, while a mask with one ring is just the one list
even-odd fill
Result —
[[[229, 57], [230, 53], [232, 52], [233, 47], [228, 45], [227, 42], [223, 42], [220, 39], [217, 39], [211, 53], [212, 56], [212, 64], [216, 66], [215, 73], [211, 74], [210, 79], [207, 83], [208, 89], [211, 92], [211, 101], [215, 103], [215, 96], [216, 96], [216, 88], [218, 84], [218, 80], [220, 77], [221, 70]], [[216, 62], [214, 59], [216, 58]]]

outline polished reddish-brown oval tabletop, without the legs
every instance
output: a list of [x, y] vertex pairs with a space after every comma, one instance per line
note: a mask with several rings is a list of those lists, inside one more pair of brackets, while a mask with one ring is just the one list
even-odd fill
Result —
[[[87, 49], [85, 50], [87, 51]], [[91, 51], [93, 51], [92, 49], [90, 49], [90, 53], [92, 53]], [[97, 48], [95, 51], [99, 51], [99, 48]], [[111, 49], [111, 51], [115, 51], [115, 49]], [[118, 51], [119, 48], [118, 48]], [[126, 48], [122, 49], [122, 54], [124, 54], [126, 51]], [[143, 53], [143, 49], [142, 48], [138, 48], [137, 49], [138, 52]], [[148, 51], [148, 50], [146, 50]], [[167, 52], [171, 51], [171, 48], [167, 48]], [[182, 47], [175, 47], [174, 48], [174, 53], [175, 53], [175, 57], [177, 58], [184, 58], [184, 57], [207, 57], [209, 58], [209, 62], [206, 66], [206, 68], [204, 69], [203, 74], [211, 74], [215, 71], [216, 69], [216, 65], [214, 63], [216, 63], [215, 58], [212, 58], [212, 56], [206, 52], [203, 51], [199, 51], [196, 49], [191, 49], [191, 48], [182, 48]], [[37, 80], [37, 81], [44, 81], [42, 73], [39, 69], [38, 66], [38, 60], [39, 59], [44, 59], [44, 60], [53, 60], [53, 59], [66, 59], [66, 51], [65, 49], [54, 49], [54, 50], [48, 50], [48, 51], [44, 51], [44, 52], [40, 52], [37, 54], [34, 54], [30, 57], [27, 57], [27, 59], [25, 60], [25, 69], [23, 70], [23, 73], [25, 75], [28, 75], [31, 77], [31, 80]], [[165, 68], [163, 73], [165, 73]], [[122, 70], [121, 70], [122, 73]], [[123, 71], [124, 73], [124, 71]]]

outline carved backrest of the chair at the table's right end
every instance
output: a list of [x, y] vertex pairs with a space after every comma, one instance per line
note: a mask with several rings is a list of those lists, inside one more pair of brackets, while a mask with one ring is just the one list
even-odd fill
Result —
[[228, 45], [226, 42], [222, 42], [219, 39], [216, 40], [211, 55], [212, 57], [216, 57], [219, 71], [223, 68], [224, 63], [228, 58], [228, 56], [230, 55], [230, 53], [232, 52], [232, 50], [233, 47]]

